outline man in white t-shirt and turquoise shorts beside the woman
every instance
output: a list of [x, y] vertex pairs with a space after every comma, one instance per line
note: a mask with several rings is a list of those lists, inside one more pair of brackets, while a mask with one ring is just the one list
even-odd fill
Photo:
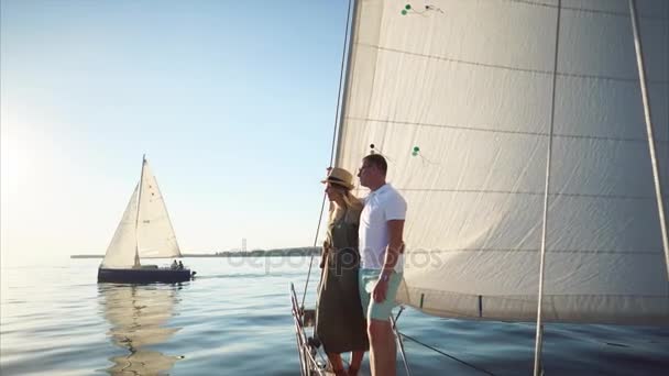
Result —
[[[372, 375], [395, 375], [397, 349], [390, 317], [402, 280], [406, 201], [385, 181], [387, 163], [379, 154], [362, 159], [360, 184], [370, 188], [360, 215], [360, 299], [368, 319]], [[370, 295], [371, 298], [370, 299]]]

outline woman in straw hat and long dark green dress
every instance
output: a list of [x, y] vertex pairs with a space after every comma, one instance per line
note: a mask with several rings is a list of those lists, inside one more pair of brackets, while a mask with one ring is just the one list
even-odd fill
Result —
[[[370, 346], [358, 287], [362, 202], [351, 193], [352, 180], [351, 173], [334, 167], [321, 181], [330, 200], [330, 220], [320, 264], [323, 270], [316, 308], [316, 336], [338, 376], [357, 375]], [[340, 355], [344, 352], [352, 352], [348, 373]]]

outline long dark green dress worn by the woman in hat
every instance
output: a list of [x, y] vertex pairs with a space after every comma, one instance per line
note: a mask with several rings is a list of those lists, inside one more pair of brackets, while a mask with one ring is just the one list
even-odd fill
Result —
[[[316, 335], [327, 353], [366, 351], [370, 347], [358, 290], [359, 217], [359, 212], [355, 215], [344, 213], [328, 225], [325, 246], [329, 251], [316, 309]], [[355, 218], [354, 222], [351, 218]]]

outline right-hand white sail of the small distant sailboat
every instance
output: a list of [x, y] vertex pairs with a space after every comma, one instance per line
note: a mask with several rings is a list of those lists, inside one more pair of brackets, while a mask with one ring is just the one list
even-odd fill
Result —
[[140, 215], [138, 218], [138, 245], [140, 258], [180, 257], [176, 235], [167, 214], [158, 183], [144, 161]]

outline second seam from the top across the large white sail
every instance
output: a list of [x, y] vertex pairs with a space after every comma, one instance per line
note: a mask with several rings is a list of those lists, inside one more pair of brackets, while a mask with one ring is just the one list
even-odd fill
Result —
[[[424, 57], [424, 58], [431, 58], [431, 59], [441, 60], [441, 62], [458, 63], [458, 64], [473, 65], [473, 66], [480, 66], [480, 67], [486, 67], [486, 68], [495, 68], [495, 69], [505, 69], [505, 70], [512, 70], [512, 71], [524, 71], [524, 73], [531, 73], [531, 74], [538, 74], [538, 75], [545, 75], [545, 76], [551, 76], [552, 77], [552, 71], [549, 71], [549, 70], [519, 68], [519, 67], [512, 67], [512, 66], [508, 66], [508, 65], [501, 65], [501, 64], [487, 64], [487, 63], [463, 60], [463, 59], [452, 58], [452, 57], [443, 57], [443, 56], [420, 54], [420, 53], [415, 53], [415, 52], [409, 52], [409, 51], [404, 51], [404, 49], [397, 49], [397, 48], [391, 48], [391, 47], [383, 47], [383, 46], [380, 46], [380, 45], [374, 45], [374, 44], [369, 44], [369, 43], [358, 43], [358, 45], [370, 47], [370, 48], [376, 48], [376, 49], [380, 49], [380, 51], [391, 52], [391, 53], [405, 54], [405, 55]], [[621, 82], [638, 82], [638, 77], [637, 78], [633, 78], [633, 77], [604, 76], [604, 75], [586, 75], [586, 74], [574, 74], [574, 73], [564, 73], [564, 71], [558, 71], [557, 76], [559, 76], [559, 77], [567, 77], [567, 78], [586, 78], [586, 79], [593, 79], [593, 80], [611, 80], [611, 81], [621, 81]], [[649, 79], [648, 82], [650, 82], [650, 84], [666, 85], [666, 84], [669, 84], [669, 80]]]

